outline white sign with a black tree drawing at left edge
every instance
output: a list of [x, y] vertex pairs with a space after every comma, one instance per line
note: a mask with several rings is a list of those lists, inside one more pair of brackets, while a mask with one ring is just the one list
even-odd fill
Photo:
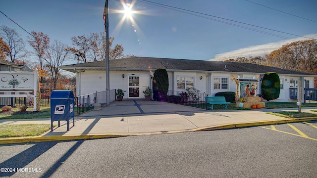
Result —
[[1, 71], [0, 90], [34, 90], [34, 73]]

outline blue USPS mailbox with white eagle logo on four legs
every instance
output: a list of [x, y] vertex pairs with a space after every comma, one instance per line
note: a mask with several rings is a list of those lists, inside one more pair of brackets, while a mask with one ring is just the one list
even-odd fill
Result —
[[67, 121], [67, 131], [69, 131], [69, 120], [74, 117], [74, 92], [72, 90], [53, 90], [51, 93], [51, 130], [53, 132], [53, 122]]

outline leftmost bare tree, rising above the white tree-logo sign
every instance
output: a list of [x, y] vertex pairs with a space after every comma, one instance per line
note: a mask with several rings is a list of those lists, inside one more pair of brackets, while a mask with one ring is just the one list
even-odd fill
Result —
[[0, 37], [9, 46], [8, 52], [6, 52], [11, 62], [15, 62], [16, 59], [22, 58], [26, 55], [25, 43], [15, 29], [11, 29], [2, 25], [0, 27]]

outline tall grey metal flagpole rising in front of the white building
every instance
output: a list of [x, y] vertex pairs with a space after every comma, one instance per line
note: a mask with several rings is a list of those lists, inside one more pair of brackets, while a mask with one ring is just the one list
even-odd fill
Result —
[[104, 9], [105, 32], [106, 32], [106, 105], [110, 105], [110, 77], [109, 77], [109, 16], [108, 16], [108, 0], [106, 0]]

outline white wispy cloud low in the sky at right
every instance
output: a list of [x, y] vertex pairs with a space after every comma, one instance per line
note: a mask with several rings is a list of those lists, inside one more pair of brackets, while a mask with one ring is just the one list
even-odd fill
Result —
[[[306, 35], [308, 38], [317, 39], [317, 34], [310, 34]], [[296, 41], [300, 40], [308, 40], [307, 38], [299, 37], [295, 39]], [[230, 58], [237, 58], [237, 57], [247, 57], [247, 56], [263, 56], [264, 54], [269, 54], [273, 50], [276, 50], [280, 48], [282, 45], [285, 45], [287, 43], [292, 43], [294, 40], [283, 40], [275, 43], [268, 43], [264, 45], [253, 45], [244, 47], [237, 50], [232, 50], [229, 52], [224, 52], [220, 54], [216, 54], [214, 58], [210, 59], [212, 61], [223, 61]]]

